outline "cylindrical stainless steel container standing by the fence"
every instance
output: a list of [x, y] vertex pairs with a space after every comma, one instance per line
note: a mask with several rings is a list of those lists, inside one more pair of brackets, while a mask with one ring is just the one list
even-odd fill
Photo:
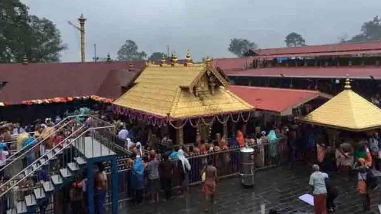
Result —
[[241, 153], [241, 183], [245, 186], [254, 185], [255, 161], [254, 149], [251, 147], [242, 147]]

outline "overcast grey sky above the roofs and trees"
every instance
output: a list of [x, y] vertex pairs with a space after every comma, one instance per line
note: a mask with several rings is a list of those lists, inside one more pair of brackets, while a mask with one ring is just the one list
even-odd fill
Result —
[[283, 47], [295, 31], [308, 45], [336, 43], [360, 32], [363, 22], [381, 16], [381, 0], [22, 0], [30, 14], [53, 21], [68, 50], [62, 61], [80, 61], [80, 35], [67, 24], [86, 21], [86, 60], [110, 53], [131, 39], [140, 51], [163, 51], [166, 45], [184, 58], [232, 57], [230, 39], [247, 38], [260, 48]]

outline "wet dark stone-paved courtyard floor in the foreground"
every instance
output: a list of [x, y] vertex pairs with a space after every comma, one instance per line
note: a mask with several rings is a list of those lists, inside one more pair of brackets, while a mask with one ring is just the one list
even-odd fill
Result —
[[[293, 170], [288, 167], [279, 167], [258, 171], [256, 185], [253, 188], [243, 188], [237, 177], [224, 179], [218, 182], [216, 189], [216, 203], [209, 206], [208, 213], [213, 214], [260, 214], [261, 204], [269, 209], [276, 209], [281, 214], [292, 214], [298, 211], [312, 213], [313, 207], [298, 199], [298, 196], [307, 193], [308, 180], [311, 169], [306, 166], [297, 166]], [[335, 173], [329, 173], [339, 196], [336, 198], [336, 212], [338, 214], [362, 213], [362, 204], [355, 190], [356, 177], [345, 179]], [[381, 190], [371, 194], [371, 211], [378, 212], [378, 203], [381, 202]], [[143, 205], [129, 203], [119, 210], [121, 214], [200, 214], [202, 209], [201, 186], [192, 186], [187, 199], [174, 198], [167, 202]]]

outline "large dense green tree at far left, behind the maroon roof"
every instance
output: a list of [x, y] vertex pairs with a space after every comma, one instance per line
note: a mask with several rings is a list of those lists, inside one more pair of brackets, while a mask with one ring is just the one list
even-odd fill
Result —
[[62, 45], [59, 30], [48, 19], [29, 16], [19, 0], [0, 1], [0, 62], [59, 61]]

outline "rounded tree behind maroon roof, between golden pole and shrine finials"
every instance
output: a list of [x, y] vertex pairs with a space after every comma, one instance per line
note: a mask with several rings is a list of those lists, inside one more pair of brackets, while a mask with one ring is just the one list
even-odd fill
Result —
[[138, 45], [130, 39], [118, 50], [118, 60], [121, 61], [143, 60], [145, 57], [147, 54], [144, 51], [138, 52]]

